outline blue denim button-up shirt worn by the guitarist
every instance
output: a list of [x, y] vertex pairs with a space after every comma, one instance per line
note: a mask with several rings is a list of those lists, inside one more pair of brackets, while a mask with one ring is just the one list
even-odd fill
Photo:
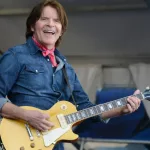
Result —
[[[43, 110], [60, 100], [73, 102], [62, 73], [64, 65], [78, 110], [93, 106], [66, 58], [57, 49], [55, 56], [59, 65], [54, 70], [49, 58], [43, 57], [31, 37], [25, 44], [6, 51], [0, 59], [0, 108], [7, 102], [6, 95], [17, 106]], [[57, 144], [56, 149], [62, 150], [62, 144]]]

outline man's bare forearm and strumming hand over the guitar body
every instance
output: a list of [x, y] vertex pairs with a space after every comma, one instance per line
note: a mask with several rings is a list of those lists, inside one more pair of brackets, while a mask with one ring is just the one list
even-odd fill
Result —
[[26, 110], [9, 102], [3, 105], [0, 114], [5, 118], [27, 121], [29, 125], [43, 132], [54, 126], [52, 122], [48, 121], [50, 118], [48, 114], [38, 110]]

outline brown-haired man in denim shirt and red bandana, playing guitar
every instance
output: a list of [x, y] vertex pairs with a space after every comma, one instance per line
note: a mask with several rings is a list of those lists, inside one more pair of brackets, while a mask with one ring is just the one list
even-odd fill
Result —
[[[63, 68], [66, 69], [77, 109], [93, 106], [73, 68], [56, 49], [67, 29], [67, 22], [64, 8], [55, 0], [45, 0], [32, 9], [26, 22], [26, 43], [10, 48], [0, 59], [2, 117], [24, 120], [40, 131], [51, 129], [55, 123], [48, 121], [48, 114], [19, 106], [47, 110], [63, 99], [74, 103]], [[138, 98], [129, 97], [126, 107], [104, 113], [101, 118], [132, 113], [139, 105]], [[99, 120], [99, 117], [93, 119]], [[62, 149], [62, 144], [55, 147], [55, 150]]]

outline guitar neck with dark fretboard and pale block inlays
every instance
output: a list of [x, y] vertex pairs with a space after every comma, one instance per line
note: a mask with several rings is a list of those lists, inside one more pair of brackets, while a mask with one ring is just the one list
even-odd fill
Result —
[[[144, 95], [142, 93], [131, 95], [131, 96], [135, 96], [141, 100], [144, 99]], [[128, 103], [127, 102], [128, 97], [129, 96], [123, 97], [114, 101], [110, 101], [104, 104], [99, 104], [93, 107], [89, 107], [89, 108], [77, 111], [75, 113], [72, 113], [72, 114], [68, 114], [65, 116], [65, 119], [68, 124], [72, 124], [72, 123], [76, 123], [76, 122], [100, 115], [104, 112], [108, 112], [116, 108], [124, 107]]]

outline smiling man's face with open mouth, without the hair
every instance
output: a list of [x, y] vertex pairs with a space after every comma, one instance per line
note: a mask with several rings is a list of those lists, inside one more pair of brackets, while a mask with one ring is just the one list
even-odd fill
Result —
[[57, 10], [51, 6], [44, 7], [39, 20], [31, 28], [34, 38], [51, 49], [62, 35], [62, 24]]

